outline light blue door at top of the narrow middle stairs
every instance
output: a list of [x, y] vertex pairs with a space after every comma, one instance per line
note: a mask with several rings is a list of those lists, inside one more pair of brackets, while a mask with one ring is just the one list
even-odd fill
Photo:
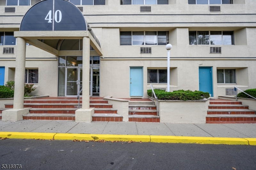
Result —
[[143, 97], [143, 67], [130, 67], [130, 96]]

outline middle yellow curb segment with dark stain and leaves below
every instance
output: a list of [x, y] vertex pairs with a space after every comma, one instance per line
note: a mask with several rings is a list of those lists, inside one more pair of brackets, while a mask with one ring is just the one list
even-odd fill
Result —
[[150, 142], [149, 135], [94, 135], [94, 134], [56, 134], [55, 140], [106, 140], [106, 141], [134, 141]]

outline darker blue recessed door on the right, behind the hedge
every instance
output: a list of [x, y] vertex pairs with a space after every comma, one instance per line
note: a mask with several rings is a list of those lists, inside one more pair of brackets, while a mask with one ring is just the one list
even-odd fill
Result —
[[199, 67], [199, 90], [208, 92], [213, 97], [212, 67]]

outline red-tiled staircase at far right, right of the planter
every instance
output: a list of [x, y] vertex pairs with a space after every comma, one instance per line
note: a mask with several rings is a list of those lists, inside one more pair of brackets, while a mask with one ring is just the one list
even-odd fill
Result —
[[210, 100], [206, 123], [255, 123], [255, 110], [231, 100]]

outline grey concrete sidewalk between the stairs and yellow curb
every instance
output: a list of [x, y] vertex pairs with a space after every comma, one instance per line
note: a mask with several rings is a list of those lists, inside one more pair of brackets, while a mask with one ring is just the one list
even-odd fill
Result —
[[0, 121], [0, 132], [256, 138], [256, 124], [76, 123], [62, 120], [21, 120], [18, 122]]

